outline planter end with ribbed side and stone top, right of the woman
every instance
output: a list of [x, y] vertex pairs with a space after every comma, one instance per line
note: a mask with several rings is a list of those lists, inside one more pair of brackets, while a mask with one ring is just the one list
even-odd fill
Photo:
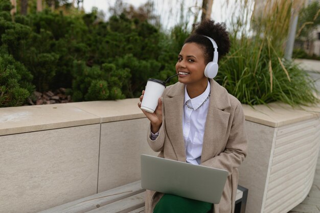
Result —
[[269, 106], [244, 106], [248, 156], [239, 168], [239, 184], [249, 189], [249, 213], [288, 212], [301, 203], [310, 191], [318, 158], [319, 108]]

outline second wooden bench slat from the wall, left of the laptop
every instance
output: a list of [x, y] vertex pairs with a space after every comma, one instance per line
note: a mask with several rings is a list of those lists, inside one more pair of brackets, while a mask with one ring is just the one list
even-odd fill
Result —
[[96, 208], [87, 213], [127, 213], [145, 205], [145, 193], [133, 195], [131, 197], [110, 203], [109, 205]]

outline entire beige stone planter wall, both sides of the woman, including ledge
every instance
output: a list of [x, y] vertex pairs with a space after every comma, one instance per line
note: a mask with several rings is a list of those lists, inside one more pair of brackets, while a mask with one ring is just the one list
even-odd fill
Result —
[[[0, 213], [37, 212], [140, 179], [148, 121], [138, 99], [0, 108]], [[319, 107], [243, 106], [247, 211], [286, 212], [312, 184]]]

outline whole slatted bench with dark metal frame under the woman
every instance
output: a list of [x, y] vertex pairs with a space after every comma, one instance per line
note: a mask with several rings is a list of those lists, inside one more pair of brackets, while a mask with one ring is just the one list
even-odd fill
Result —
[[[235, 213], [244, 213], [248, 190], [238, 186]], [[65, 203], [38, 213], [145, 213], [141, 181]]]

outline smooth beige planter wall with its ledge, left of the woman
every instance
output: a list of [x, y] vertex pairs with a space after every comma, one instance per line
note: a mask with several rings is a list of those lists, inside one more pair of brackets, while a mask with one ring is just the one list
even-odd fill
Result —
[[140, 179], [138, 99], [0, 108], [0, 212], [31, 213]]

